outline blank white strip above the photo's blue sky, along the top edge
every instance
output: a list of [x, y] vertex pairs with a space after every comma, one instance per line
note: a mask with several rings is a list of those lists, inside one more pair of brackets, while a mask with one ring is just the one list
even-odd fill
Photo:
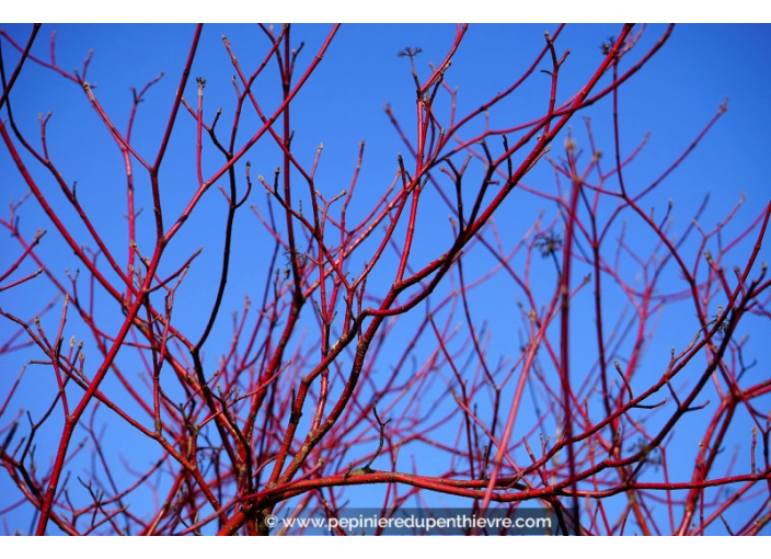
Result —
[[[95, 0], [4, 0], [3, 22], [134, 22], [189, 23], [290, 21], [304, 22], [517, 22], [543, 21], [588, 22], [697, 22], [735, 23], [768, 22], [771, 11], [759, 10], [762, 2], [734, 0], [730, 4], [714, 0], [698, 3], [672, 0], [620, 2], [618, 0], [389, 0], [371, 2], [352, 0], [131, 0], [104, 2]], [[2, 25], [0, 23], [0, 25]]]

